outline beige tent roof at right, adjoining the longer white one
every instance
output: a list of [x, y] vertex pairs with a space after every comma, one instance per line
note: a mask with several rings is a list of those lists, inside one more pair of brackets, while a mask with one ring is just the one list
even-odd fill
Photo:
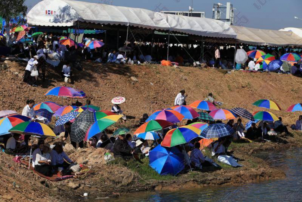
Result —
[[231, 26], [237, 41], [248, 45], [302, 46], [302, 38], [290, 31]]

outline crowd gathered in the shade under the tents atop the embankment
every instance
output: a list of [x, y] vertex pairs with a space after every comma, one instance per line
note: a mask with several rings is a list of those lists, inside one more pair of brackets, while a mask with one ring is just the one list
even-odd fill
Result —
[[[13, 37], [14, 40], [16, 37]], [[4, 43], [5, 37], [2, 37]], [[67, 40], [67, 42], [66, 42]], [[69, 41], [68, 41], [69, 40]], [[84, 41], [85, 40], [85, 41]], [[98, 45], [88, 45], [86, 40], [98, 42]], [[54, 36], [52, 33], [36, 35], [33, 38], [33, 43], [13, 41], [11, 45], [11, 55], [19, 58], [28, 58], [28, 65], [25, 69], [24, 82], [30, 85], [36, 85], [37, 76], [31, 76], [31, 71], [34, 67], [37, 73], [45, 81], [45, 72], [47, 68], [51, 68], [52, 64], [48, 61], [63, 61], [62, 79], [65, 82], [72, 82], [72, 69], [81, 69], [79, 63], [75, 61], [95, 61], [98, 63], [118, 63], [118, 64], [168, 64], [178, 66], [201, 66], [208, 68], [222, 69], [246, 69], [249, 71], [265, 71], [262, 67], [263, 61], [258, 62], [258, 58], [251, 58], [244, 64], [234, 65], [235, 47], [228, 45], [215, 45], [214, 43], [204, 43], [184, 47], [182, 45], [170, 45], [168, 61], [172, 63], [163, 63], [167, 60], [168, 45], [165, 43], [133, 43], [127, 47], [121, 47], [118, 50], [109, 50], [105, 48], [102, 40], [83, 39], [83, 42], [77, 44], [68, 37]], [[64, 43], [66, 42], [66, 43]], [[5, 44], [5, 43], [4, 43]], [[244, 49], [246, 52], [251, 50], [263, 51], [266, 54], [274, 56], [279, 60], [285, 53], [295, 53], [302, 55], [300, 49], [296, 48], [277, 48], [277, 47], [252, 47], [248, 45], [237, 45], [237, 49]], [[126, 55], [125, 55], [126, 54]], [[300, 59], [299, 59], [300, 60]], [[67, 64], [66, 64], [67, 61]], [[302, 68], [300, 61], [291, 62], [291, 69], [283, 70], [282, 67], [274, 70], [278, 73], [292, 73], [293, 75], [301, 76]]]

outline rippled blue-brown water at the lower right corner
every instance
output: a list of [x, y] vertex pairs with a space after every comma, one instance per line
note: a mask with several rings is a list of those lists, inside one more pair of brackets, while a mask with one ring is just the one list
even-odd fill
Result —
[[302, 201], [302, 149], [261, 152], [257, 156], [285, 171], [286, 178], [240, 186], [132, 193], [115, 201]]

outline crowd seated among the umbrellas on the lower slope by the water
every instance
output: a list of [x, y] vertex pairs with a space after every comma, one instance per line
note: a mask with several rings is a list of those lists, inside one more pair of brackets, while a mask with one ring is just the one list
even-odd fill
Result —
[[[120, 99], [120, 97], [117, 97]], [[175, 97], [174, 107], [181, 107], [186, 105], [186, 98], [187, 94], [185, 94], [185, 90], [182, 90], [177, 94]], [[205, 98], [207, 102], [213, 104], [213, 106], [223, 105], [222, 102], [216, 101], [212, 93], [208, 94], [208, 97]], [[127, 116], [123, 113], [120, 104], [112, 102], [111, 114], [120, 114], [123, 115], [123, 120], [127, 121]], [[120, 102], [123, 103], [123, 102]], [[38, 115], [34, 110], [35, 101], [28, 100], [27, 105], [24, 107], [22, 111], [22, 115], [25, 117], [29, 117], [31, 121], [40, 121], [37, 119]], [[87, 100], [86, 103], [87, 107], [92, 106], [91, 101]], [[72, 103], [72, 106], [75, 107], [83, 107], [83, 104], [79, 101], [76, 103]], [[92, 110], [88, 108], [87, 110]], [[172, 109], [166, 109], [167, 111]], [[165, 110], [163, 110], [165, 111]], [[184, 164], [186, 165], [187, 169], [196, 169], [202, 170], [203, 167], [214, 166], [220, 168], [220, 166], [213, 161], [215, 158], [219, 158], [222, 156], [227, 156], [230, 159], [228, 160], [228, 164], [232, 165], [233, 167], [241, 166], [238, 164], [240, 159], [234, 157], [232, 155], [233, 151], [229, 151], [229, 146], [232, 141], [278, 141], [277, 134], [278, 133], [285, 133], [289, 135], [287, 126], [282, 123], [282, 118], [279, 117], [279, 120], [276, 121], [260, 121], [257, 127], [257, 122], [252, 122], [250, 126], [247, 128], [243, 125], [242, 119], [238, 118], [237, 121], [234, 119], [228, 120], [227, 123], [223, 123], [221, 120], [208, 120], [204, 119], [202, 113], [210, 113], [207, 112], [199, 112], [199, 117], [189, 119], [187, 122], [178, 122], [169, 125], [167, 128], [163, 128], [160, 131], [156, 132], [156, 136], [158, 138], [143, 139], [142, 137], [137, 136], [137, 134], [132, 135], [130, 130], [127, 128], [120, 128], [115, 131], [114, 134], [108, 134], [104, 130], [101, 133], [89, 138], [87, 141], [80, 141], [78, 144], [77, 142], [71, 141], [71, 144], [74, 148], [80, 147], [94, 147], [94, 148], [105, 148], [108, 151], [111, 151], [114, 155], [113, 158], [122, 158], [124, 160], [135, 159], [142, 163], [141, 159], [148, 158], [149, 153], [156, 148], [157, 146], [161, 145], [164, 141], [165, 135], [169, 133], [169, 131], [173, 128], [183, 127], [182, 124], [185, 126], [191, 126], [192, 124], [196, 123], [204, 123], [209, 126], [215, 124], [222, 124], [224, 127], [231, 128], [232, 132], [230, 134], [219, 137], [219, 138], [212, 138], [212, 139], [205, 139], [204, 137], [197, 137], [193, 138], [191, 141], [187, 142], [186, 144], [176, 145], [180, 152], [182, 152], [188, 158], [185, 159]], [[233, 113], [233, 112], [232, 112]], [[152, 114], [153, 115], [153, 114]], [[3, 117], [5, 118], [5, 117]], [[143, 117], [140, 119], [139, 125], [142, 126], [149, 122], [150, 117], [148, 114], [143, 114]], [[1, 119], [0, 119], [1, 120]], [[152, 119], [153, 120], [153, 119]], [[293, 130], [300, 130], [301, 131], [301, 120], [302, 116], [299, 116], [296, 124], [293, 124], [291, 128]], [[68, 155], [64, 152], [64, 145], [66, 144], [67, 138], [71, 133], [71, 126], [72, 121], [68, 121], [63, 125], [56, 126], [53, 128], [56, 135], [59, 135], [61, 132], [64, 132], [64, 137], [60, 141], [56, 141], [53, 143], [52, 147], [47, 144], [44, 138], [39, 138], [37, 144], [29, 146], [29, 140], [31, 137], [30, 135], [21, 135], [20, 134], [7, 134], [2, 135], [2, 142], [3, 150], [7, 154], [30, 154], [30, 150], [32, 149], [33, 152], [31, 153], [32, 156], [32, 163], [31, 166], [34, 167], [36, 171], [45, 175], [51, 176], [54, 171], [65, 171], [69, 173], [69, 168], [74, 163]], [[20, 143], [21, 140], [21, 143]], [[204, 144], [204, 141], [207, 144]], [[205, 149], [211, 151], [211, 156], [206, 157], [204, 156]], [[190, 153], [190, 155], [188, 154]], [[113, 159], [111, 157], [111, 159]], [[78, 162], [81, 163], [81, 162]], [[69, 169], [69, 170], [68, 170]], [[186, 169], [185, 169], [186, 170]]]

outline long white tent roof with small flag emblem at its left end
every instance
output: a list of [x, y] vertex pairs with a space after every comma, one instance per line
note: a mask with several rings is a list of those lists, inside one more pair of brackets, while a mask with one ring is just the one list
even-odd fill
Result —
[[60, 27], [70, 27], [76, 22], [87, 25], [129, 25], [205, 37], [236, 38], [230, 25], [219, 20], [72, 0], [41, 1], [28, 12], [27, 22], [35, 26]]

